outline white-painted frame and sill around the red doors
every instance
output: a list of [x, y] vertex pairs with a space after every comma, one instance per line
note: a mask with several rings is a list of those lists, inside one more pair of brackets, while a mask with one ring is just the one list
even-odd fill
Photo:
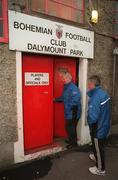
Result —
[[[40, 54], [38, 54], [40, 56]], [[82, 94], [82, 116], [78, 123], [78, 143], [85, 144], [90, 141], [89, 128], [86, 125], [86, 89], [87, 89], [88, 60], [79, 59], [79, 86]], [[63, 147], [52, 147], [33, 154], [25, 154], [24, 132], [23, 132], [23, 101], [22, 101], [22, 52], [16, 51], [16, 92], [17, 92], [17, 127], [18, 141], [14, 143], [14, 163], [44, 157], [64, 150]]]

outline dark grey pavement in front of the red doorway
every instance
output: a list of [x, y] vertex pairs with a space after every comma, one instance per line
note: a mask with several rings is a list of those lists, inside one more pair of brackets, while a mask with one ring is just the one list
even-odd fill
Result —
[[0, 180], [118, 180], [118, 138], [106, 148], [106, 176], [92, 175], [90, 146], [66, 151], [53, 157], [22, 164], [0, 173]]

